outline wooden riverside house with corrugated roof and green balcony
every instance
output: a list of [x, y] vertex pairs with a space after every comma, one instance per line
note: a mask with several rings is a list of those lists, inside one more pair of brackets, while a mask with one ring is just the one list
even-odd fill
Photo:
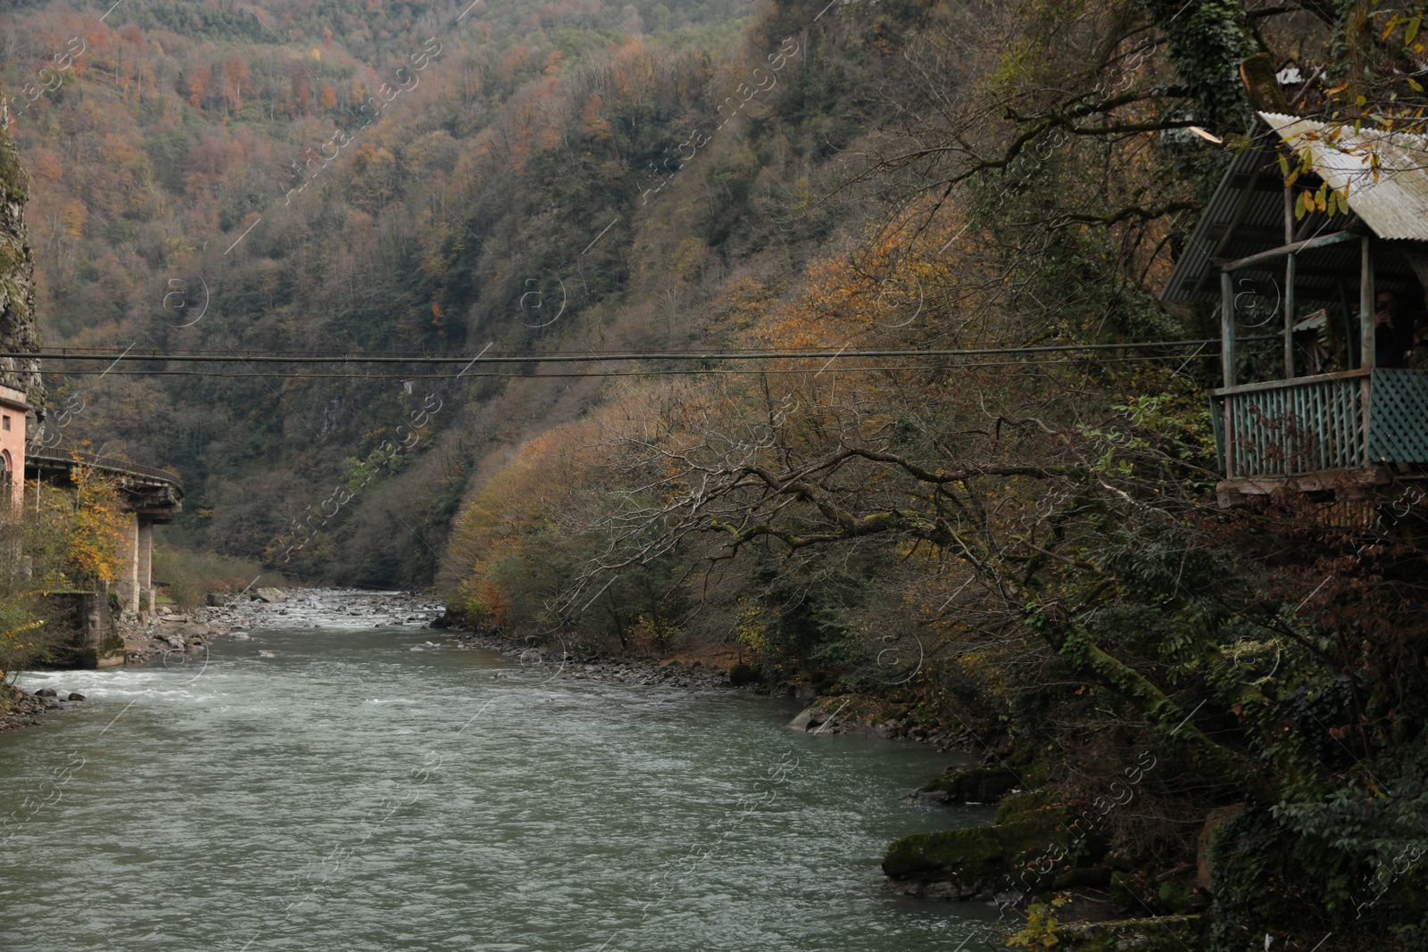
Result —
[[[1428, 138], [1259, 120], [1162, 293], [1218, 303], [1220, 504], [1401, 492], [1428, 480]], [[1347, 203], [1297, 216], [1319, 184]]]

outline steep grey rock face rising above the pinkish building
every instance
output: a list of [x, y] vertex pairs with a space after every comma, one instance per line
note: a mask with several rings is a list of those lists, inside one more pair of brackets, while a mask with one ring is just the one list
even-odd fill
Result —
[[[26, 174], [7, 126], [7, 101], [0, 97], [0, 351], [34, 353], [40, 350], [40, 328], [34, 318], [34, 261], [24, 228]], [[37, 360], [0, 357], [0, 385], [26, 391], [31, 407], [44, 405]], [[30, 425], [34, 422], [31, 418]]]

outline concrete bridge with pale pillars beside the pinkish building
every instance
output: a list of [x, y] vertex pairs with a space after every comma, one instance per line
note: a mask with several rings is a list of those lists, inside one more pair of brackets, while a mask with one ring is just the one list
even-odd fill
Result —
[[91, 452], [27, 452], [24, 477], [40, 484], [73, 485], [76, 470], [91, 470], [111, 480], [129, 515], [124, 527], [124, 571], [119, 578], [119, 604], [129, 614], [140, 605], [153, 608], [154, 525], [173, 522], [183, 510], [178, 474], [133, 462], [107, 460]]

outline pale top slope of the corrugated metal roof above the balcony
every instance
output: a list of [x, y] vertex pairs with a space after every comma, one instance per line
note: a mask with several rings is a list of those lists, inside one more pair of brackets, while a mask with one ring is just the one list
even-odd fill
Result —
[[[1428, 241], [1428, 138], [1259, 113], [1379, 238]], [[1369, 157], [1377, 156], [1377, 174]]]

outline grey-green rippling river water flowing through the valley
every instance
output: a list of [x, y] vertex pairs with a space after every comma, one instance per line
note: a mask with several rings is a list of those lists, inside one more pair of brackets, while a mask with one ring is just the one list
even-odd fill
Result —
[[0, 948], [985, 948], [990, 906], [880, 889], [895, 836], [988, 822], [898, 805], [948, 755], [306, 624], [23, 678], [89, 699], [0, 735]]

